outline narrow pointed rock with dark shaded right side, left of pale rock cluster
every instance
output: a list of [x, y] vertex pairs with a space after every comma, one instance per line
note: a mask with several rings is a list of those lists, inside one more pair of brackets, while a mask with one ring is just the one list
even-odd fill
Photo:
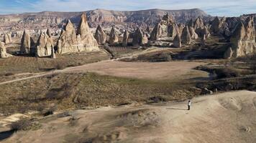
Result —
[[33, 39], [30, 37], [30, 34], [24, 30], [23, 36], [22, 36], [22, 44], [20, 46], [20, 51], [23, 54], [35, 54], [35, 49], [34, 46], [35, 42]]

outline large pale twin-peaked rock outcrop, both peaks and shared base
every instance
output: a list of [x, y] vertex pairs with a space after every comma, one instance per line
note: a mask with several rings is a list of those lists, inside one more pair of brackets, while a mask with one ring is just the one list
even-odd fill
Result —
[[65, 28], [61, 31], [57, 47], [59, 54], [99, 50], [98, 43], [89, 29], [85, 14], [81, 15], [77, 35], [72, 22], [68, 20]]

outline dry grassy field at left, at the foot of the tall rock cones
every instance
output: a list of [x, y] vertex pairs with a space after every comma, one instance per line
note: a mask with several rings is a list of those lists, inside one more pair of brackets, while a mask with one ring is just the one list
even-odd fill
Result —
[[102, 51], [58, 55], [57, 59], [14, 56], [9, 59], [0, 59], [0, 74], [49, 71], [58, 69], [60, 65], [61, 68], [65, 68], [106, 59], [109, 59], [109, 55]]

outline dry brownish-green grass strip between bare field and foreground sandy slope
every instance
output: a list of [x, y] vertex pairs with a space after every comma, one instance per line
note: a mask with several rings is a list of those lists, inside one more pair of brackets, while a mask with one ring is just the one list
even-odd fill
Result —
[[29, 79], [0, 87], [0, 111], [3, 113], [42, 111], [50, 108], [76, 109], [106, 105], [186, 99], [193, 92], [190, 83], [127, 79], [98, 74], [58, 74]]

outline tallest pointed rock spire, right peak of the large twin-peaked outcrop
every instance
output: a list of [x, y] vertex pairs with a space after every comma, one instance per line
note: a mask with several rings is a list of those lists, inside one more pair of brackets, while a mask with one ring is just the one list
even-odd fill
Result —
[[[80, 35], [81, 43], [83, 44], [83, 49], [81, 51], [99, 51], [98, 43], [90, 31], [86, 14], [84, 13], [81, 15], [77, 35]], [[78, 41], [80, 41], [80, 39]]]

